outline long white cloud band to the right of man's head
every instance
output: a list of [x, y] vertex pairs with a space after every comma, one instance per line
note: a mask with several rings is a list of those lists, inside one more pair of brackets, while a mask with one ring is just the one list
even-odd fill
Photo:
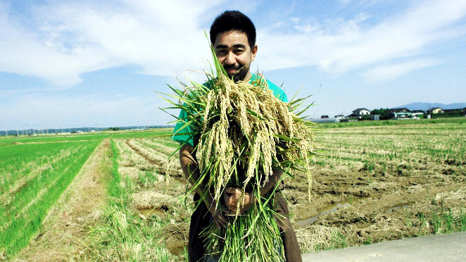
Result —
[[[457, 23], [466, 16], [466, 1], [422, 1], [403, 13], [376, 25], [365, 23], [370, 14], [356, 15], [353, 20], [333, 20], [299, 29], [277, 32], [275, 29], [258, 32], [258, 61], [263, 70], [317, 66], [332, 73], [356, 68], [373, 68], [393, 63], [397, 59], [428, 59], [429, 47], [452, 37], [466, 35]], [[299, 27], [301, 26], [301, 27]], [[259, 62], [258, 62], [259, 63]], [[433, 65], [434, 63], [432, 63]], [[377, 71], [382, 68], [378, 67]], [[405, 66], [405, 72], [415, 70]], [[401, 70], [401, 68], [399, 68]], [[389, 73], [389, 72], [387, 72]], [[370, 75], [370, 73], [367, 73]]]

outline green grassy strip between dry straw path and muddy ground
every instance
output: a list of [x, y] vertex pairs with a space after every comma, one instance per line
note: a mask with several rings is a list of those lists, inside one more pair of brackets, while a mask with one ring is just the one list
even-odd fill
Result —
[[120, 175], [120, 154], [117, 142], [112, 140], [112, 168], [108, 184], [108, 206], [100, 223], [90, 233], [87, 259], [91, 261], [174, 261], [160, 234], [170, 220], [148, 223], [141, 219], [132, 205], [134, 182], [151, 180], [151, 173], [132, 180]]

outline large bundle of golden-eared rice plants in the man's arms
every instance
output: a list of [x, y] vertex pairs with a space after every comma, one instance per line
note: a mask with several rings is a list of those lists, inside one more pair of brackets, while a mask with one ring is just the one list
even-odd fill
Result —
[[[279, 169], [291, 176], [296, 170], [305, 172], [310, 190], [309, 165], [315, 136], [313, 123], [300, 117], [307, 108], [298, 111], [305, 99], [281, 101], [260, 75], [251, 83], [234, 82], [213, 50], [212, 54], [215, 72], [211, 68], [206, 73], [206, 84], [180, 82], [184, 90], [169, 85], [175, 92], [170, 96], [180, 103], [165, 99], [172, 108], [187, 113], [186, 118], [177, 119], [184, 123], [179, 133], [186, 135], [183, 129], [190, 126], [189, 135], [199, 140], [196, 158], [201, 175], [187, 195], [203, 185], [203, 195], [212, 195], [220, 205], [225, 187], [238, 187], [243, 196], [229, 227], [219, 229], [211, 223], [201, 233], [206, 237], [205, 247], [220, 261], [284, 261], [276, 222], [280, 217], [273, 204], [280, 181], [265, 195], [260, 194], [260, 188], [272, 177], [273, 170]], [[257, 202], [239, 214], [245, 192], [251, 192]]]

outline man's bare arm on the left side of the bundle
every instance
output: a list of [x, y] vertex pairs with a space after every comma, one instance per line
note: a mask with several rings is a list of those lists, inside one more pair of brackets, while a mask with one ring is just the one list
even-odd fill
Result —
[[[194, 147], [188, 144], [184, 144], [180, 148], [180, 165], [183, 170], [184, 176], [187, 178], [191, 185], [195, 185], [196, 182], [199, 180], [201, 174], [199, 173], [198, 163], [196, 161], [196, 157], [193, 155]], [[217, 224], [218, 228], [227, 227], [228, 220], [225, 216], [222, 215], [220, 210], [216, 210], [217, 203], [213, 200], [213, 197], [210, 194], [205, 195], [206, 187], [201, 184], [196, 187], [196, 192], [201, 196], [206, 204], [207, 208], [209, 209], [210, 214]]]

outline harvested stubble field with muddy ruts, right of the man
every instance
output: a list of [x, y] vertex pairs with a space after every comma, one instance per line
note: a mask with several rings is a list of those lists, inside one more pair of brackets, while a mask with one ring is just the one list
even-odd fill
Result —
[[461, 122], [325, 128], [317, 137], [313, 204], [300, 176], [285, 190], [303, 252], [448, 232], [434, 225], [439, 214], [464, 218]]

